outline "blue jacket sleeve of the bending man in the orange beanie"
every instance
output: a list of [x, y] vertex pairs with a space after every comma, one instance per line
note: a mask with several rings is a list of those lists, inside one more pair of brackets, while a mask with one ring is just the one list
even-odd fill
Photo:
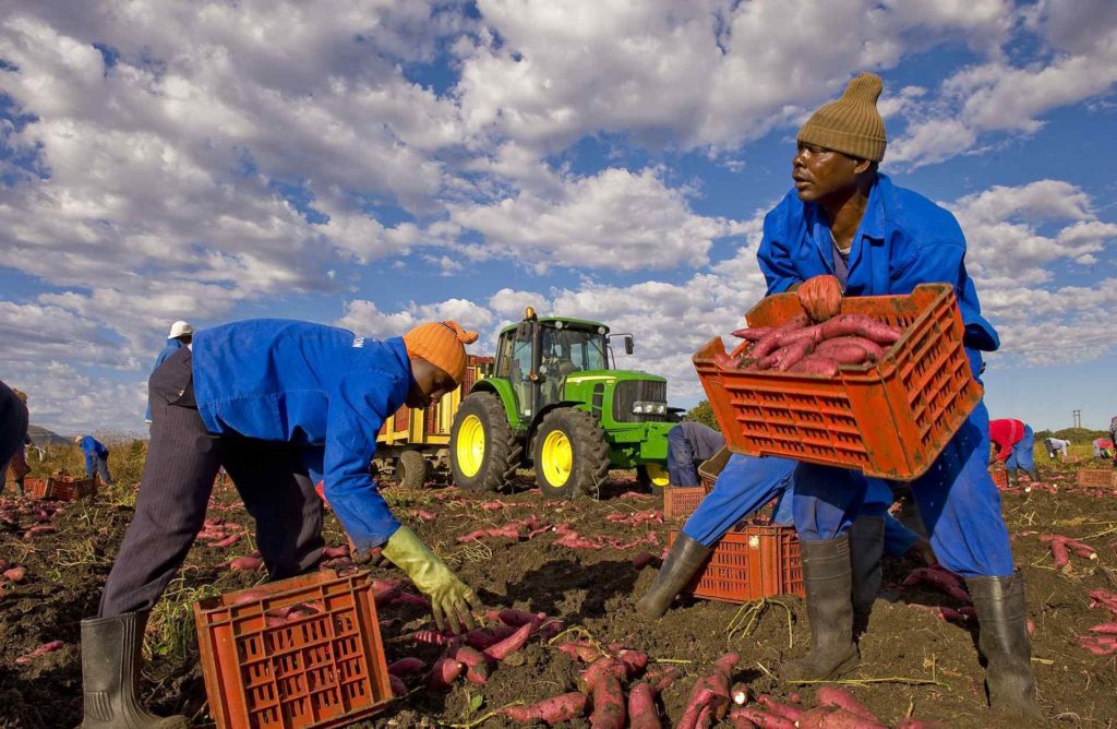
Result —
[[395, 409], [394, 378], [362, 370], [342, 377], [331, 394], [323, 458], [323, 493], [359, 551], [380, 547], [400, 528], [369, 473], [376, 434]]

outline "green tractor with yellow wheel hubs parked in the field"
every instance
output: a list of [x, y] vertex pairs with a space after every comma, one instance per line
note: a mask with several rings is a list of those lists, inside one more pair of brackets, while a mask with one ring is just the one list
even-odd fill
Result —
[[[667, 380], [610, 369], [604, 324], [535, 315], [505, 328], [489, 376], [462, 399], [450, 430], [450, 468], [462, 489], [499, 491], [534, 466], [544, 496], [596, 498], [610, 468], [637, 468], [645, 487], [667, 484]], [[615, 367], [615, 361], [613, 361]]]

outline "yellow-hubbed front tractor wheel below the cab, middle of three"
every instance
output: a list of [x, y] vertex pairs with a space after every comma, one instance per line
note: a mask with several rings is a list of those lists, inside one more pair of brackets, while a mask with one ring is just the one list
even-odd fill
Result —
[[543, 496], [601, 495], [609, 479], [605, 432], [588, 413], [560, 408], [547, 413], [535, 433], [535, 482]]

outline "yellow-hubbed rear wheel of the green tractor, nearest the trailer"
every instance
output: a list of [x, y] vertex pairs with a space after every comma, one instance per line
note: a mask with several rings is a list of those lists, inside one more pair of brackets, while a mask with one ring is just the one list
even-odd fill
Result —
[[467, 491], [499, 491], [515, 477], [522, 454], [499, 397], [474, 392], [461, 401], [450, 429], [454, 483]]

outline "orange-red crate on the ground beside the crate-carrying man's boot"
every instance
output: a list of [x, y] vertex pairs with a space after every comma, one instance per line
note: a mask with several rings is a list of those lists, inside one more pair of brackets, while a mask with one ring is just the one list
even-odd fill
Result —
[[[667, 538], [668, 547], [678, 531]], [[793, 527], [738, 527], [722, 538], [685, 593], [725, 603], [803, 595], [803, 562]]]

